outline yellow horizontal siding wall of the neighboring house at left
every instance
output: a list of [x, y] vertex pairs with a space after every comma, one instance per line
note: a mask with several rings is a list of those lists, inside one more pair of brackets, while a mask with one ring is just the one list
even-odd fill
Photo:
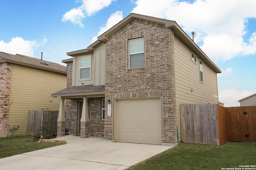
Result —
[[51, 94], [65, 88], [66, 74], [13, 64], [8, 136], [12, 135], [9, 128], [13, 125], [20, 126], [14, 135], [26, 134], [28, 111], [59, 110], [60, 99]]

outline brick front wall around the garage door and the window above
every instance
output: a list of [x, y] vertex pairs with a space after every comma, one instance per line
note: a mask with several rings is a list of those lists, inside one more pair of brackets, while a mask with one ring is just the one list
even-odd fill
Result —
[[[128, 40], [144, 37], [145, 65], [129, 69]], [[162, 143], [176, 143], [174, 32], [162, 24], [134, 19], [106, 41], [105, 98], [112, 115], [105, 117], [104, 138], [114, 140], [114, 99], [160, 97]]]

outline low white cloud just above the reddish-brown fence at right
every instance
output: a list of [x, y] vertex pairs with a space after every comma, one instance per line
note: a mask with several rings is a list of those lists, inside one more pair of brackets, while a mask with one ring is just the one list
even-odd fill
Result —
[[223, 90], [219, 93], [219, 101], [225, 103], [225, 107], [240, 106], [238, 100], [249, 95], [252, 95], [252, 93], [246, 90], [242, 92], [239, 92], [236, 89]]

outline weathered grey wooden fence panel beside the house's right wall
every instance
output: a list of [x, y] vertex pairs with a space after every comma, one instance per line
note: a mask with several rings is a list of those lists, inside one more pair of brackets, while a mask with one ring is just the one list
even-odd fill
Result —
[[181, 104], [182, 142], [219, 145], [217, 106]]

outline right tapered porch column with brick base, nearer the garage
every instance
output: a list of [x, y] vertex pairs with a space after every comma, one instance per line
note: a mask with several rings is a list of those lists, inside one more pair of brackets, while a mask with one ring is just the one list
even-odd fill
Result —
[[88, 98], [84, 97], [82, 117], [80, 119], [80, 138], [89, 137], [89, 113], [88, 113]]

